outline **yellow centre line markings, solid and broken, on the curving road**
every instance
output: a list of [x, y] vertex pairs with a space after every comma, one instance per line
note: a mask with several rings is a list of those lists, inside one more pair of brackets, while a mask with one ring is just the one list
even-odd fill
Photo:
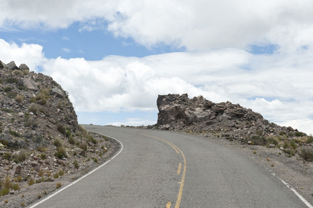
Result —
[[[138, 134], [138, 135], [142, 135], [142, 134]], [[186, 168], [187, 168], [187, 162], [186, 162], [186, 158], [184, 153], [182, 152], [182, 150], [180, 150], [180, 148], [178, 148], [175, 144], [171, 143], [170, 141], [167, 141], [165, 139], [161, 139], [158, 137], [153, 137], [151, 135], [142, 135], [144, 137], [151, 137], [154, 139], [159, 139], [161, 141], [164, 141], [166, 144], [169, 144], [169, 146], [171, 146], [172, 148], [174, 148], [174, 150], [176, 151], [176, 153], [179, 155], [179, 153], [183, 156], [184, 159], [184, 169], [183, 169], [183, 175], [182, 175], [182, 180], [178, 183], [180, 183], [180, 188], [178, 191], [178, 196], [177, 196], [177, 200], [176, 200], [176, 204], [175, 204], [175, 208], [179, 208], [180, 206], [180, 201], [182, 200], [182, 196], [183, 196], [183, 189], [184, 189], [184, 184], [185, 184], [185, 176], [186, 176]], [[180, 174], [180, 168], [181, 168], [181, 164], [179, 164], [178, 166], [178, 171], [177, 174]], [[171, 207], [171, 202], [167, 202], [166, 208], [170, 208]]]

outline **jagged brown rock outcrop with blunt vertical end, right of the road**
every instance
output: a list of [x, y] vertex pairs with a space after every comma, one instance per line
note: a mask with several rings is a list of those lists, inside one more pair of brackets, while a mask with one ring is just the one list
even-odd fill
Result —
[[239, 104], [213, 103], [203, 96], [188, 98], [187, 94], [159, 95], [158, 123], [162, 130], [220, 132], [231, 139], [246, 139], [251, 135], [305, 135], [291, 127], [269, 123], [263, 116]]

